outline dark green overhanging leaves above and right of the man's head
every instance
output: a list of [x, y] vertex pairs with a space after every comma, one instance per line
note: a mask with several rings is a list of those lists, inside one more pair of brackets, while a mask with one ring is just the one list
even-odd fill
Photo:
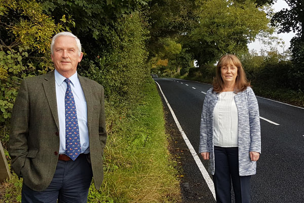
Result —
[[147, 0], [38, 0], [55, 22], [67, 16], [75, 24], [67, 23], [69, 29], [82, 42], [86, 58], [95, 61], [98, 55], [120, 40], [117, 30], [121, 18], [134, 14], [147, 4]]

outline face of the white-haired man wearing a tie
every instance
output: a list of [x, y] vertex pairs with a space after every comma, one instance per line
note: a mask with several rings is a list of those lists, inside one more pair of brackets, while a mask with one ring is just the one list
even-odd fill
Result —
[[53, 54], [51, 55], [55, 69], [64, 77], [69, 78], [76, 73], [77, 65], [83, 57], [79, 55], [76, 41], [70, 36], [60, 36], [53, 45]]

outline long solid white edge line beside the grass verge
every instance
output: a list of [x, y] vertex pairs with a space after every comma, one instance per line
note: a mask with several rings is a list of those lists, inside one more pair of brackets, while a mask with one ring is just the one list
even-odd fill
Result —
[[[156, 84], [158, 84], [158, 82], [156, 82]], [[181, 128], [181, 126], [180, 126], [180, 124], [179, 124], [179, 122], [178, 122], [178, 120], [177, 120], [177, 118], [176, 118], [176, 116], [175, 116], [175, 114], [174, 114], [174, 112], [173, 112], [173, 110], [172, 110], [172, 108], [171, 108], [171, 106], [170, 106], [170, 104], [169, 104], [169, 102], [168, 102], [168, 100], [167, 100], [167, 98], [166, 98], [166, 96], [165, 96], [165, 94], [164, 94], [164, 92], [163, 92], [163, 90], [162, 90], [160, 84], [158, 84], [158, 86], [159, 86], [159, 88], [160, 88], [160, 91], [161, 91], [162, 94], [163, 94], [163, 97], [164, 97], [164, 99], [165, 99], [165, 101], [166, 101], [166, 104], [168, 105], [168, 108], [170, 109], [170, 112], [171, 112], [171, 114], [172, 114], [172, 116], [173, 116], [173, 119], [174, 119], [174, 121], [175, 121], [175, 123], [176, 123], [176, 125], [177, 125], [177, 127], [178, 127], [178, 129], [179, 129], [179, 131], [180, 131], [180, 133], [181, 133], [182, 138], [184, 139], [184, 141], [185, 141], [185, 143], [186, 143], [186, 145], [187, 145], [189, 151], [191, 152], [191, 154], [192, 154], [192, 156], [193, 156], [193, 158], [194, 158], [196, 164], [198, 165], [198, 167], [199, 167], [199, 169], [200, 169], [200, 171], [201, 171], [201, 173], [202, 173], [202, 175], [203, 175], [203, 177], [204, 177], [204, 179], [205, 179], [205, 181], [206, 181], [206, 183], [207, 183], [207, 185], [208, 185], [208, 187], [209, 187], [209, 189], [210, 189], [210, 191], [211, 191], [211, 193], [212, 193], [214, 199], [216, 200], [216, 198], [215, 198], [215, 190], [214, 190], [213, 181], [211, 180], [211, 178], [210, 178], [208, 172], [206, 171], [206, 168], [205, 168], [205, 166], [203, 165], [203, 163], [202, 163], [200, 157], [198, 156], [198, 154], [197, 154], [196, 151], [194, 150], [193, 146], [191, 145], [190, 141], [188, 140], [188, 138], [187, 138], [185, 132], [184, 132], [183, 129]]]

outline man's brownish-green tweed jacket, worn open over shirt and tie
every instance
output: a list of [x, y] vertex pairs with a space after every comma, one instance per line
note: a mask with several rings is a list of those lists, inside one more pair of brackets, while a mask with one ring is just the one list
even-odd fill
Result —
[[[106, 143], [104, 90], [97, 82], [78, 76], [87, 102], [90, 159], [94, 184], [103, 180]], [[9, 153], [15, 173], [33, 190], [51, 183], [59, 156], [59, 119], [54, 72], [23, 80], [11, 118]]]

